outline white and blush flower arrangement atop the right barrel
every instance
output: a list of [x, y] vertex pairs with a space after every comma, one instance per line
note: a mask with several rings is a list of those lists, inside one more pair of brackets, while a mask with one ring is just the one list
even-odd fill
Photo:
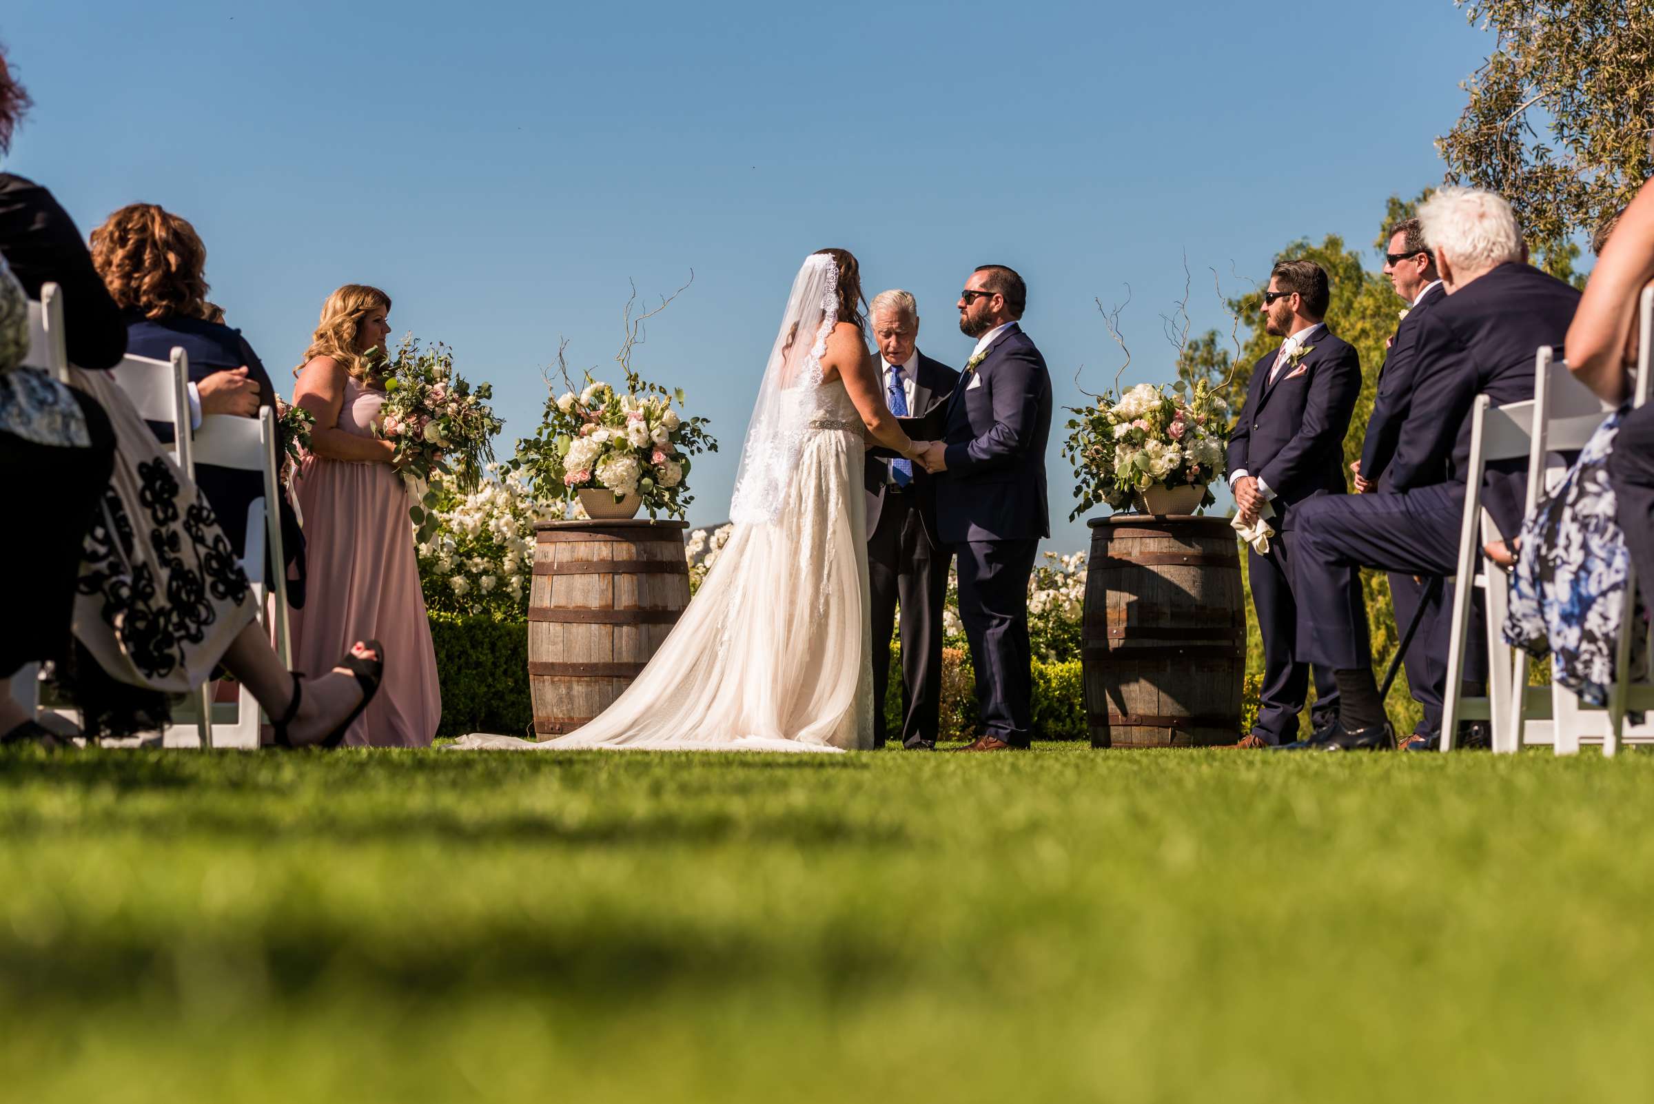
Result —
[[1197, 486], [1201, 506], [1214, 502], [1207, 484], [1222, 474], [1229, 403], [1204, 380], [1166, 387], [1138, 383], [1115, 398], [1105, 392], [1090, 407], [1070, 407], [1062, 454], [1073, 464], [1075, 519], [1098, 502], [1126, 509], [1143, 491]]

